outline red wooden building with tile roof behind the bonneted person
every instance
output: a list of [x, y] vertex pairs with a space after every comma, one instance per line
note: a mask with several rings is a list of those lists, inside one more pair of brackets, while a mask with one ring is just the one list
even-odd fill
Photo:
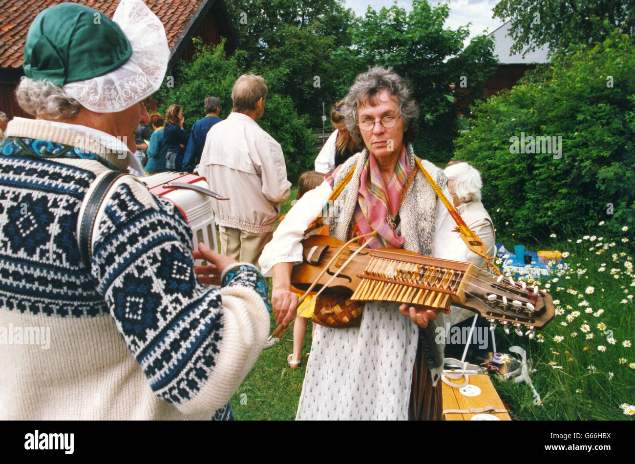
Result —
[[[11, 119], [15, 116], [32, 117], [20, 109], [15, 88], [23, 76], [24, 43], [37, 13], [56, 0], [0, 0], [0, 111]], [[77, 0], [102, 11], [112, 18], [119, 0]], [[218, 44], [225, 38], [225, 51], [233, 53], [238, 47], [236, 30], [223, 0], [145, 0], [165, 27], [170, 46], [172, 69], [178, 60], [189, 60], [194, 53], [193, 37], [204, 44]]]

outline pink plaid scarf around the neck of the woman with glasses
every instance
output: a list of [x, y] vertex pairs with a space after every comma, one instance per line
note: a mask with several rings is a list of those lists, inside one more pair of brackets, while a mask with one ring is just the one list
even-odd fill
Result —
[[[390, 211], [393, 220], [396, 219], [403, 188], [410, 175], [410, 163], [406, 156], [406, 145], [401, 147], [399, 161], [389, 184], [386, 186], [382, 179], [381, 171], [372, 153], [359, 176], [358, 204], [354, 212], [354, 224], [351, 228], [351, 237], [369, 234], [377, 230], [377, 235], [372, 237], [368, 248], [401, 248], [403, 237], [399, 236], [387, 220]], [[361, 239], [360, 244], [366, 239]]]

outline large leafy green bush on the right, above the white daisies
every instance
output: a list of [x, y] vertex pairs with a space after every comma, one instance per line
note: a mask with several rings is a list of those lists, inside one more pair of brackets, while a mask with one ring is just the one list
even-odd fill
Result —
[[[481, 171], [483, 202], [499, 231], [541, 242], [552, 233], [592, 232], [604, 221], [613, 232], [627, 226], [632, 243], [633, 76], [635, 48], [615, 32], [472, 108], [455, 159]], [[522, 133], [562, 137], [561, 157], [513, 152], [512, 137]]]

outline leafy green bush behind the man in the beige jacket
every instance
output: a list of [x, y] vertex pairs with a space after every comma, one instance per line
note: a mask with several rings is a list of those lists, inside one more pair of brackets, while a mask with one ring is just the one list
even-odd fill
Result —
[[[183, 107], [184, 129], [190, 131], [197, 119], [205, 116], [206, 96], [221, 101], [221, 117], [232, 109], [232, 87], [237, 77], [251, 72], [243, 67], [244, 52], [225, 56], [224, 43], [218, 46], [196, 45], [196, 53], [189, 63], [179, 62], [177, 69], [166, 79], [155, 98], [161, 102], [159, 112], [173, 103]], [[279, 94], [278, 77], [273, 72], [263, 75], [269, 87], [265, 100], [265, 114], [258, 124], [282, 145], [287, 176], [295, 182], [303, 171], [312, 169], [316, 154], [312, 149], [315, 137], [308, 128], [308, 117], [298, 116], [288, 96]]]

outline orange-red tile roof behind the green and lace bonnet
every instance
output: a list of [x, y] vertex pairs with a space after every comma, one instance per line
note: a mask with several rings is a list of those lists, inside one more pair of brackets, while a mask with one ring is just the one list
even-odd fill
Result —
[[[150, 10], [161, 20], [173, 52], [180, 37], [187, 32], [192, 20], [204, 3], [213, 0], [145, 0]], [[0, 67], [19, 68], [23, 62], [24, 43], [29, 26], [37, 13], [56, 0], [0, 0]], [[119, 0], [76, 0], [112, 18]]]

